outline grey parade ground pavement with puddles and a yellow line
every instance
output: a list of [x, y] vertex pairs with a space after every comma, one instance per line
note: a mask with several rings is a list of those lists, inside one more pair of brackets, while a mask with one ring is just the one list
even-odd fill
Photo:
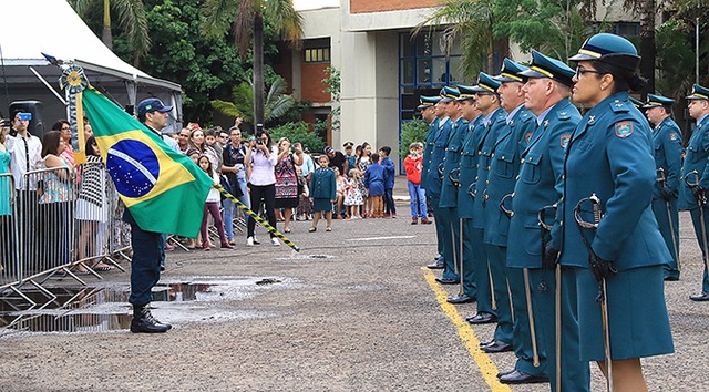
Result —
[[[401, 180], [399, 179], [399, 185]], [[405, 186], [405, 183], [403, 183]], [[173, 251], [154, 291], [153, 313], [174, 329], [127, 331], [129, 275], [111, 271], [64, 282], [55, 301], [31, 311], [0, 303], [3, 391], [438, 391], [491, 388], [421, 267], [435, 254], [434, 228], [411, 226], [408, 205], [397, 219], [336, 220], [333, 231], [292, 225], [300, 254], [285, 245], [236, 250]], [[676, 353], [644, 360], [651, 391], [706, 391], [709, 303], [689, 216], [681, 215], [680, 281], [666, 286]], [[323, 227], [321, 223], [320, 227]], [[279, 228], [281, 228], [279, 224]], [[127, 267], [127, 265], [124, 262]], [[439, 271], [434, 271], [436, 276]], [[458, 292], [456, 286], [442, 288]], [[35, 298], [42, 302], [41, 295]], [[40, 306], [41, 307], [41, 306]], [[456, 306], [461, 317], [474, 305]], [[492, 326], [473, 329], [489, 340]], [[496, 370], [512, 353], [489, 358]], [[486, 370], [490, 370], [486, 368]], [[594, 390], [604, 390], [592, 367]], [[513, 391], [548, 391], [517, 385]]]

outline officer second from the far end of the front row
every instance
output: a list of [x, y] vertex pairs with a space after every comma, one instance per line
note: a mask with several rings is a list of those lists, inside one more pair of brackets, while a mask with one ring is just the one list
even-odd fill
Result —
[[436, 113], [439, 114], [439, 133], [433, 141], [433, 151], [431, 153], [431, 163], [429, 166], [429, 174], [427, 176], [425, 193], [431, 197], [431, 208], [433, 208], [433, 215], [435, 216], [435, 229], [439, 237], [440, 250], [443, 256], [443, 274], [441, 277], [435, 278], [439, 283], [442, 285], [456, 285], [459, 276], [455, 272], [455, 259], [453, 255], [453, 245], [449, 244], [453, 234], [451, 233], [451, 219], [450, 214], [440, 207], [441, 200], [441, 187], [442, 187], [442, 169], [443, 159], [445, 157], [445, 148], [453, 135], [453, 121], [450, 117], [453, 109], [449, 107], [453, 104], [453, 101], [458, 97], [459, 92], [456, 89], [444, 86], [441, 89], [441, 100], [436, 104]]

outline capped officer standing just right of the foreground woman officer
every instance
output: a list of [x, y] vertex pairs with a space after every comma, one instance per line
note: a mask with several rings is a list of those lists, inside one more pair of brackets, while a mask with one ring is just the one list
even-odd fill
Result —
[[675, 100], [648, 94], [643, 109], [647, 120], [655, 124], [653, 145], [655, 166], [658, 177], [653, 192], [653, 212], [660, 227], [667, 249], [672, 261], [665, 266], [665, 280], [678, 280], [679, 267], [679, 214], [677, 197], [679, 196], [679, 177], [682, 166], [682, 132], [670, 117]]

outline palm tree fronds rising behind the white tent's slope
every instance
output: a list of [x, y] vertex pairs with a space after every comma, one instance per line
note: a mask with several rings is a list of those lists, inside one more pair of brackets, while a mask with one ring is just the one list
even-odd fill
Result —
[[[100, 0], [71, 0], [70, 3], [80, 17], [85, 18], [92, 10], [100, 6]], [[119, 14], [119, 25], [125, 31], [130, 48], [133, 49], [133, 65], [140, 64], [141, 58], [151, 49], [151, 39], [147, 30], [147, 17], [145, 6], [141, 0], [103, 0], [103, 32], [102, 41], [113, 50], [113, 35], [111, 34], [111, 10]]]

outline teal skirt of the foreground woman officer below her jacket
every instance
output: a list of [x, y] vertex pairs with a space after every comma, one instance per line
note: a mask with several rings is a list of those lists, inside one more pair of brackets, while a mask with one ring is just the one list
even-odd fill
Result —
[[[599, 285], [587, 268], [576, 269], [580, 358], [604, 361]], [[625, 360], [675, 351], [665, 305], [662, 266], [620, 271], [607, 280], [610, 358]]]

